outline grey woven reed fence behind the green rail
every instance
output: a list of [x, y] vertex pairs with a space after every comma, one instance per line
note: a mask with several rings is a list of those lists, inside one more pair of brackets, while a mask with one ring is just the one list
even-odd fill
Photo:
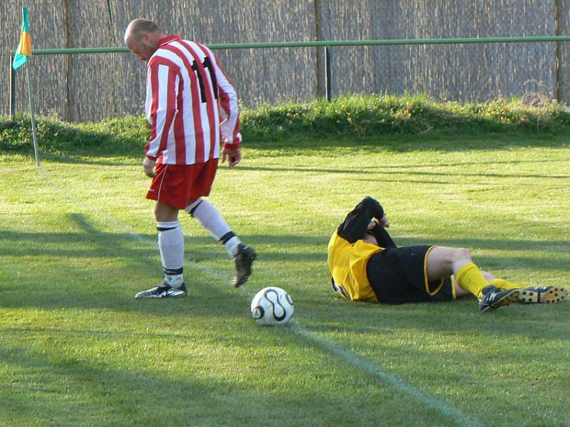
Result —
[[[206, 44], [570, 34], [570, 0], [7, 0], [0, 2], [3, 115], [23, 4], [34, 49], [122, 46], [128, 22], [140, 16]], [[323, 48], [215, 53], [242, 105], [323, 95]], [[569, 102], [569, 58], [569, 42], [334, 47], [331, 89], [333, 96], [425, 93], [477, 102], [536, 95]], [[145, 65], [129, 53], [36, 56], [29, 64], [39, 114], [85, 122], [142, 111]], [[28, 109], [24, 77], [16, 74], [18, 111]]]

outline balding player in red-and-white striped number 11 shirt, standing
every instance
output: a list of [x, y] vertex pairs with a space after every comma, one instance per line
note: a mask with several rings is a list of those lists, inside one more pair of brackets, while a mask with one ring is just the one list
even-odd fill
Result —
[[145, 112], [150, 141], [142, 162], [152, 178], [147, 199], [156, 201], [158, 247], [165, 278], [138, 292], [137, 298], [187, 295], [183, 279], [184, 236], [178, 211], [184, 210], [224, 244], [233, 257], [235, 287], [252, 274], [255, 251], [244, 245], [208, 196], [223, 142], [222, 163], [242, 159], [237, 95], [216, 57], [206, 46], [178, 35], [167, 36], [147, 19], [131, 21], [125, 45], [147, 62]]

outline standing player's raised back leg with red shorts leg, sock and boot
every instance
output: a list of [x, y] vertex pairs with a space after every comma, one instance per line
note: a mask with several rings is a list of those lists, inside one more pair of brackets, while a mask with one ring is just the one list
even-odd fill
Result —
[[195, 179], [191, 198], [185, 208], [188, 214], [196, 218], [212, 236], [222, 243], [230, 257], [234, 259], [236, 276], [233, 285], [238, 288], [249, 280], [252, 265], [257, 258], [253, 248], [244, 245], [239, 237], [227, 225], [222, 215], [209, 201], [202, 199], [208, 196], [217, 170], [217, 159], [210, 159]]

